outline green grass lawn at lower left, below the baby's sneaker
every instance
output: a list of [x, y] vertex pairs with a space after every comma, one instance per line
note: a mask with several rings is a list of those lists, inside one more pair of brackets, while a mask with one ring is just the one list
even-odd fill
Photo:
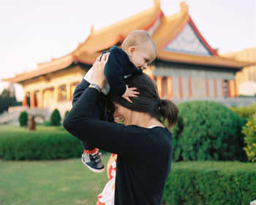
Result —
[[[107, 165], [110, 154], [102, 155]], [[0, 160], [0, 204], [96, 204], [108, 181], [106, 171], [95, 174], [80, 159]]]

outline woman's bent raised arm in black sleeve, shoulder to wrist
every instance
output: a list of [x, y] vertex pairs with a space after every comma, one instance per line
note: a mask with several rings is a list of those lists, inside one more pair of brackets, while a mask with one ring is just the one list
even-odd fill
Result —
[[101, 150], [122, 154], [128, 134], [124, 125], [92, 118], [99, 91], [87, 88], [65, 117], [63, 126], [83, 142]]

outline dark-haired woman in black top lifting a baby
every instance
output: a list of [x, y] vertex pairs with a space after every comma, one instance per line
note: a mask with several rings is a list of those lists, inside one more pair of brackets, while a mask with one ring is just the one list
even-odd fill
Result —
[[129, 87], [138, 88], [132, 103], [111, 95], [114, 117], [123, 124], [93, 119], [94, 103], [106, 84], [103, 70], [107, 61], [108, 54], [95, 61], [93, 83], [70, 110], [64, 128], [100, 150], [117, 154], [115, 204], [161, 204], [173, 155], [172, 136], [163, 120], [173, 127], [178, 108], [159, 98], [146, 74], [135, 74], [126, 81]]

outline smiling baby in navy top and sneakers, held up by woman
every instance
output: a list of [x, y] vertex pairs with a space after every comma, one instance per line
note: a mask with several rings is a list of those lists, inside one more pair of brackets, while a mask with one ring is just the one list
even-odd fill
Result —
[[[108, 82], [105, 88], [101, 90], [97, 88], [97, 85], [91, 84], [93, 73], [92, 69], [89, 69], [82, 82], [75, 88], [72, 98], [72, 104], [75, 104], [83, 91], [89, 86], [95, 87], [99, 92], [102, 92], [93, 110], [93, 117], [99, 120], [108, 119], [106, 114], [106, 96], [110, 89], [132, 103], [129, 97], [134, 97], [138, 92], [135, 92], [135, 88], [128, 88], [124, 79], [132, 74], [141, 73], [147, 68], [148, 63], [154, 61], [157, 56], [157, 45], [147, 31], [135, 30], [124, 39], [121, 48], [113, 46], [108, 52], [110, 54], [104, 69]], [[99, 150], [85, 142], [81, 141], [81, 144], [84, 150], [82, 155], [83, 164], [91, 169], [91, 171], [97, 173], [104, 171], [105, 168], [101, 162]]]

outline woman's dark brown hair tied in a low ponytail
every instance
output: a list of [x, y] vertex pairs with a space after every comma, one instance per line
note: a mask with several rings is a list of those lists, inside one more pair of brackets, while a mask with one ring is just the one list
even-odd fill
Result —
[[151, 117], [157, 118], [159, 122], [167, 120], [167, 127], [173, 128], [178, 120], [178, 107], [172, 101], [159, 98], [157, 85], [148, 75], [132, 74], [125, 80], [129, 88], [138, 88], [140, 94], [136, 98], [130, 98], [132, 103], [116, 93], [110, 92], [113, 102], [131, 110], [146, 112]]

